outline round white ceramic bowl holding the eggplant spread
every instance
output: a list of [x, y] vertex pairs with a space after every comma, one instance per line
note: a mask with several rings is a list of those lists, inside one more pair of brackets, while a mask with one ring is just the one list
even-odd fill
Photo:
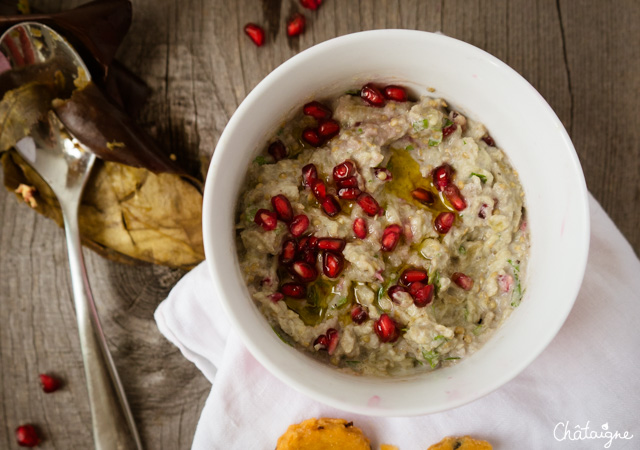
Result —
[[[459, 364], [422, 376], [347, 375], [284, 344], [249, 297], [235, 247], [234, 211], [250, 162], [305, 102], [368, 81], [446, 99], [484, 123], [520, 174], [531, 253], [526, 293], [490, 341]], [[427, 88], [433, 87], [431, 94]], [[582, 282], [589, 247], [587, 190], [562, 123], [514, 70], [464, 42], [379, 30], [316, 45], [269, 74], [238, 107], [216, 147], [204, 195], [204, 243], [217, 295], [253, 356], [289, 386], [360, 414], [405, 416], [460, 406], [502, 386], [551, 342]]]

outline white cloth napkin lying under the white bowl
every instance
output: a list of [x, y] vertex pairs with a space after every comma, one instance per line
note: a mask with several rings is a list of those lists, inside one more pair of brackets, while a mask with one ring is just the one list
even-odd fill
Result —
[[[640, 261], [593, 197], [590, 207], [585, 280], [553, 342], [497, 391], [421, 417], [358, 416], [280, 382], [230, 330], [201, 264], [155, 313], [160, 331], [213, 384], [193, 448], [273, 449], [290, 424], [311, 417], [353, 420], [373, 449], [386, 443], [425, 450], [444, 436], [465, 434], [497, 449], [640, 448]], [[625, 432], [627, 439], [620, 437]]]

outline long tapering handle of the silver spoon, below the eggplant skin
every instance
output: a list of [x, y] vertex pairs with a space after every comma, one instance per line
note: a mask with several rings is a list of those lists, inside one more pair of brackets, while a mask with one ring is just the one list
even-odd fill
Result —
[[82, 257], [78, 203], [61, 202], [96, 450], [142, 450], [129, 403], [111, 358]]

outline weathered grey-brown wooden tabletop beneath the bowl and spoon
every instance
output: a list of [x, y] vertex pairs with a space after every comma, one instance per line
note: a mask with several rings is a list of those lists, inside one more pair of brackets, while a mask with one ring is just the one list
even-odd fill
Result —
[[[50, 12], [80, 3], [31, 2]], [[640, 250], [637, 1], [325, 0], [317, 12], [304, 11], [307, 31], [290, 40], [285, 23], [297, 9], [297, 0], [134, 1], [119, 59], [154, 90], [141, 123], [206, 170], [238, 104], [299, 51], [373, 28], [441, 30], [494, 54], [540, 91], [569, 131], [589, 189]], [[267, 28], [265, 46], [244, 35], [247, 22]], [[63, 231], [9, 192], [0, 211], [0, 448], [17, 448], [13, 430], [25, 422], [39, 425], [41, 448], [91, 448]], [[153, 321], [183, 273], [85, 256], [146, 448], [189, 448], [210, 385]], [[65, 380], [53, 395], [39, 388], [38, 374], [49, 371]]]

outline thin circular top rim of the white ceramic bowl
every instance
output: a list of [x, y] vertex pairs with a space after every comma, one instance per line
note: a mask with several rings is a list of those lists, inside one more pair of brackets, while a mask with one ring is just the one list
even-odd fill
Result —
[[[240, 118], [244, 115], [245, 110], [251, 107], [254, 99], [259, 98], [263, 91], [269, 88], [269, 85], [283, 76], [290, 67], [296, 66], [299, 62], [304, 61], [307, 58], [312, 58], [316, 54], [325, 52], [328, 49], [331, 49], [335, 46], [343, 46], [347, 44], [356, 44], [358, 41], [367, 40], [370, 38], [379, 38], [381, 35], [384, 35], [385, 38], [394, 38], [394, 37], [402, 37], [402, 38], [419, 38], [419, 39], [434, 39], [436, 42], [441, 41], [449, 45], [456, 45], [465, 47], [466, 50], [475, 52], [479, 57], [484, 58], [491, 62], [492, 64], [498, 67], [498, 70], [506, 71], [511, 74], [511, 76], [515, 77], [514, 80], [517, 80], [521, 87], [528, 90], [530, 95], [537, 97], [538, 101], [541, 102], [543, 109], [545, 109], [545, 113], [549, 116], [549, 119], [555, 123], [558, 131], [560, 132], [560, 137], [562, 143], [568, 150], [568, 156], [570, 158], [570, 162], [573, 165], [571, 167], [572, 170], [575, 171], [575, 174], [578, 175], [576, 181], [580, 185], [580, 204], [577, 205], [576, 214], [582, 215], [582, 225], [583, 225], [583, 238], [582, 243], [579, 246], [581, 253], [575, 255], [576, 258], [572, 261], [572, 266], [576, 267], [578, 270], [576, 273], [578, 274], [576, 277], [575, 285], [571, 290], [571, 298], [572, 300], [567, 301], [564, 305], [565, 308], [560, 311], [556, 311], [556, 323], [559, 325], [557, 329], [555, 329], [552, 333], [549, 333], [545, 336], [545, 339], [541, 339], [537, 345], [535, 346], [534, 351], [530, 351], [527, 353], [527, 357], [523, 357], [519, 360], [519, 363], [509, 367], [509, 371], [505, 373], [500, 373], [495, 379], [491, 382], [486, 383], [484, 389], [480, 389], [474, 392], [473, 395], [468, 395], [467, 397], [463, 397], [456, 400], [449, 401], [446, 405], [441, 407], [432, 407], [429, 408], [429, 405], [417, 405], [417, 406], [408, 406], [404, 408], [395, 408], [395, 409], [378, 409], [378, 408], [369, 408], [367, 406], [354, 405], [349, 403], [346, 400], [342, 400], [339, 397], [332, 397], [325, 394], [320, 393], [319, 391], [313, 390], [309, 388], [308, 385], [301, 383], [295, 376], [288, 373], [286, 370], [275, 364], [271, 357], [267, 355], [267, 352], [263, 351], [261, 346], [255, 342], [255, 340], [247, 333], [245, 328], [242, 326], [242, 321], [239, 317], [236, 316], [231, 306], [224, 300], [224, 293], [220, 289], [220, 287], [215, 282], [219, 277], [217, 276], [217, 261], [216, 261], [216, 251], [213, 248], [213, 237], [209, 237], [209, 233], [207, 232], [210, 229], [210, 218], [213, 217], [214, 214], [212, 201], [214, 198], [213, 195], [213, 182], [205, 183], [204, 196], [203, 196], [203, 240], [204, 240], [204, 249], [206, 256], [206, 264], [208, 266], [208, 270], [214, 282], [212, 283], [214, 295], [219, 296], [222, 301], [223, 309], [227, 316], [230, 319], [232, 327], [234, 331], [240, 336], [242, 342], [247, 347], [252, 356], [262, 364], [272, 375], [276, 376], [276, 378], [283, 381], [290, 387], [293, 387], [297, 391], [318, 400], [326, 405], [330, 405], [341, 410], [349, 411], [352, 413], [363, 414], [368, 416], [414, 416], [414, 415], [424, 415], [437, 413], [444, 410], [449, 410], [453, 408], [457, 408], [466, 403], [470, 403], [475, 401], [485, 395], [497, 390], [501, 386], [505, 385], [517, 375], [519, 375], [527, 366], [529, 366], [551, 343], [551, 341], [555, 338], [557, 333], [562, 328], [565, 323], [573, 305], [578, 296], [580, 287], [582, 285], [582, 280], [584, 278], [584, 273], [587, 265], [587, 257], [589, 253], [589, 241], [590, 241], [590, 220], [589, 220], [589, 204], [588, 204], [588, 191], [586, 182], [584, 179], [584, 174], [582, 172], [582, 168], [580, 165], [580, 161], [578, 159], [578, 155], [575, 151], [573, 143], [562, 125], [562, 122], [557, 117], [551, 106], [546, 102], [546, 100], [542, 97], [542, 95], [518, 72], [508, 66], [506, 63], [499, 60], [497, 57], [491, 55], [490, 53], [473, 46], [472, 44], [466, 43], [464, 41], [460, 41], [458, 39], [445, 36], [441, 33], [432, 33], [427, 31], [418, 31], [418, 30], [405, 30], [405, 29], [382, 29], [382, 30], [370, 30], [370, 31], [360, 31], [357, 33], [346, 34], [342, 36], [338, 36], [327, 41], [316, 44], [308, 49], [294, 55], [290, 59], [284, 61], [281, 65], [276, 67], [271, 73], [269, 73], [265, 78], [263, 78], [245, 97], [245, 99], [238, 106], [229, 122], [225, 126], [223, 133], [218, 140], [216, 145], [216, 149], [223, 148], [227, 146], [227, 141], [229, 140], [229, 136], [235, 132], [235, 129], [238, 127], [240, 122]], [[253, 149], [251, 149], [253, 150]], [[221, 170], [220, 165], [217, 164], [217, 161], [222, 156], [222, 152], [214, 152], [213, 157], [211, 159], [211, 164], [207, 173], [207, 180], [215, 179], [216, 174]], [[442, 370], [442, 369], [439, 369]]]

